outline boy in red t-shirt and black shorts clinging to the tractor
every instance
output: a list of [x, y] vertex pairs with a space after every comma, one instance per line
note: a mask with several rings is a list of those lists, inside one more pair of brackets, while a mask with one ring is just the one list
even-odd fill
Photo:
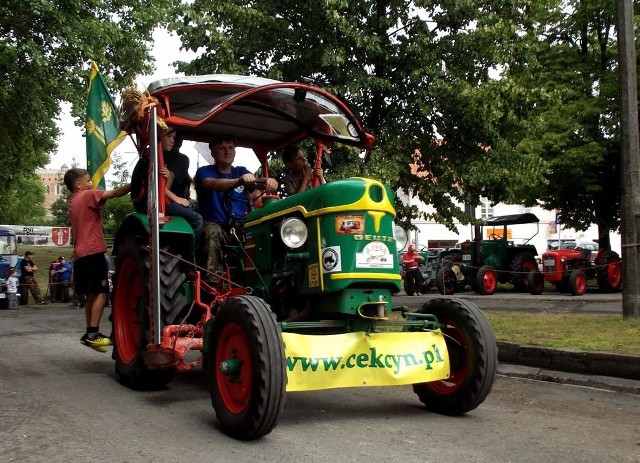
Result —
[[69, 219], [74, 239], [73, 275], [75, 292], [86, 295], [85, 316], [87, 331], [80, 342], [99, 352], [106, 352], [111, 339], [100, 333], [100, 320], [109, 295], [107, 244], [102, 232], [102, 208], [107, 200], [129, 193], [131, 186], [123, 185], [114, 190], [94, 190], [89, 172], [69, 169], [64, 174], [64, 184], [71, 192]]

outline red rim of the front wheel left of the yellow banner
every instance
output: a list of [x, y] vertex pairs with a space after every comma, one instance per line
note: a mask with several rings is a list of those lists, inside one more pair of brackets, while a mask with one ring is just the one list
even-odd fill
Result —
[[[251, 351], [249, 339], [237, 323], [226, 325], [218, 340], [215, 356], [216, 381], [220, 398], [231, 413], [242, 413], [249, 403], [251, 395]], [[220, 365], [225, 360], [240, 361], [240, 371], [236, 374], [224, 374]]]

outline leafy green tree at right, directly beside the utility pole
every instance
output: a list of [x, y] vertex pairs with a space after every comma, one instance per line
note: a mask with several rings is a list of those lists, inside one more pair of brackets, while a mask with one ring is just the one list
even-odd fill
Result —
[[614, 2], [532, 4], [504, 73], [503, 97], [513, 102], [504, 136], [548, 171], [546, 185], [529, 196], [562, 210], [566, 226], [596, 223], [601, 247], [620, 224], [614, 15]]

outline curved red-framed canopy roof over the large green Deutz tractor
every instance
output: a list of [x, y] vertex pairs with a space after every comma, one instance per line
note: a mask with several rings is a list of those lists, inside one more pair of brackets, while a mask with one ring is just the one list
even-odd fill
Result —
[[237, 146], [263, 153], [310, 137], [373, 147], [373, 135], [338, 97], [305, 83], [214, 74], [158, 80], [148, 91], [189, 140], [232, 135]]

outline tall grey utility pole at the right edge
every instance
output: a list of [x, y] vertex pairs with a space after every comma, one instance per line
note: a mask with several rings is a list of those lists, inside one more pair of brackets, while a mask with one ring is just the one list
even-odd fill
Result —
[[640, 318], [640, 146], [633, 0], [616, 0], [620, 88], [622, 316]]

